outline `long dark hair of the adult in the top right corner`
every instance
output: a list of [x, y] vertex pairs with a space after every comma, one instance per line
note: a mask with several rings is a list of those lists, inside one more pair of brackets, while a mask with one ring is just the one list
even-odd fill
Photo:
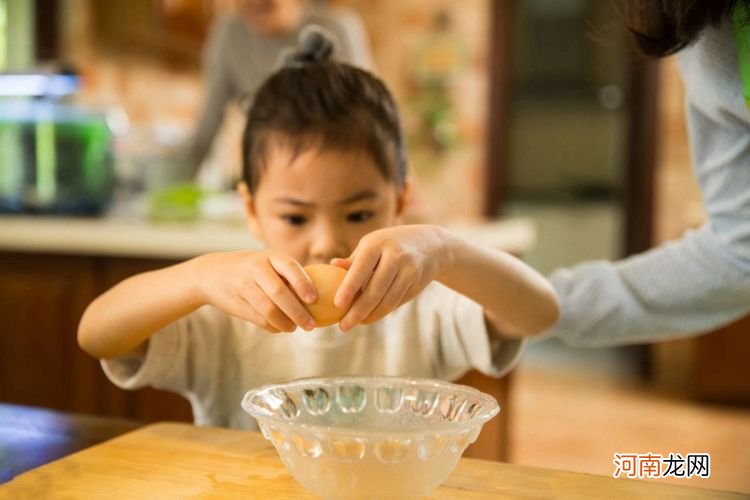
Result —
[[731, 17], [750, 0], [629, 0], [626, 25], [636, 47], [650, 56], [667, 56], [695, 41], [709, 26]]

